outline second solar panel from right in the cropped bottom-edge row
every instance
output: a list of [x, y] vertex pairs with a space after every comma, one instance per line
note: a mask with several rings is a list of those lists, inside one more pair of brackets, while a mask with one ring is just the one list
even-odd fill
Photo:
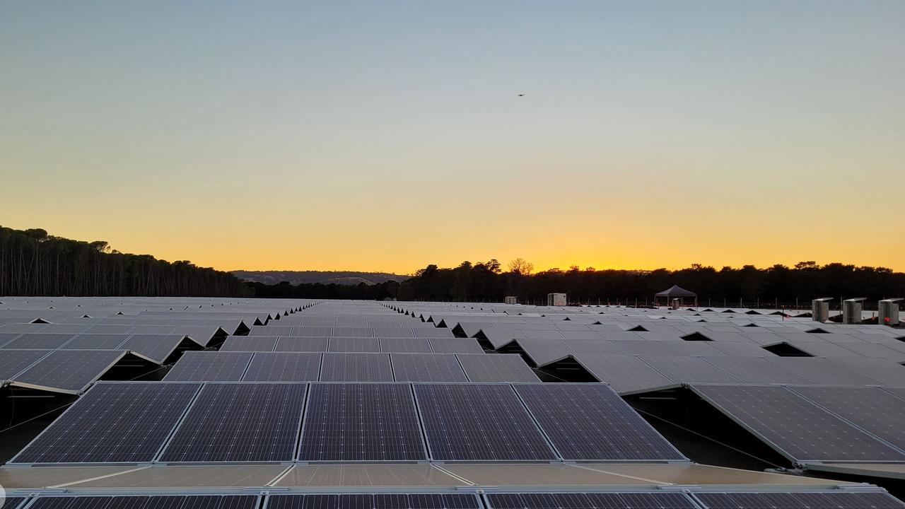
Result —
[[[491, 509], [694, 509], [679, 493], [488, 494]], [[739, 509], [738, 507], [734, 509]]]

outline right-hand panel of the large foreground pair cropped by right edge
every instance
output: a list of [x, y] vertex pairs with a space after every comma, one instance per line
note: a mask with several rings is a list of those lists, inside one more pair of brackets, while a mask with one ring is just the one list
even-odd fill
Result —
[[905, 399], [872, 387], [791, 387], [817, 405], [871, 433], [905, 448]]

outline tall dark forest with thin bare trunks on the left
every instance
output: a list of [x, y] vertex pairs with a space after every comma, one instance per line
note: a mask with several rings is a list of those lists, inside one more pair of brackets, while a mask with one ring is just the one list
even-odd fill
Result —
[[233, 274], [128, 255], [107, 242], [0, 226], [0, 295], [235, 297], [252, 290]]

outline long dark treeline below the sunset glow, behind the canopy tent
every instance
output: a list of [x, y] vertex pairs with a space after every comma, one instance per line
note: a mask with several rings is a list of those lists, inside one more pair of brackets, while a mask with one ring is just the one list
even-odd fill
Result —
[[[521, 303], [544, 303], [547, 293], [564, 292], [570, 303], [653, 303], [653, 294], [678, 284], [698, 293], [699, 303], [713, 306], [809, 306], [815, 297], [882, 298], [905, 296], [905, 274], [883, 267], [801, 262], [794, 267], [741, 268], [693, 264], [670, 271], [550, 269], [532, 274], [531, 264], [514, 260], [503, 270], [497, 260], [455, 268], [428, 265], [402, 283], [253, 285], [257, 296], [501, 302], [507, 295]], [[838, 301], [836, 301], [838, 305]]]

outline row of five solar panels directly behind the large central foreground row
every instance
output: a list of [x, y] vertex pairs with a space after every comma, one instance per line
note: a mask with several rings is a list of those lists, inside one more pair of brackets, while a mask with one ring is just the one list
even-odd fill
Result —
[[187, 351], [167, 381], [539, 381], [519, 355]]

